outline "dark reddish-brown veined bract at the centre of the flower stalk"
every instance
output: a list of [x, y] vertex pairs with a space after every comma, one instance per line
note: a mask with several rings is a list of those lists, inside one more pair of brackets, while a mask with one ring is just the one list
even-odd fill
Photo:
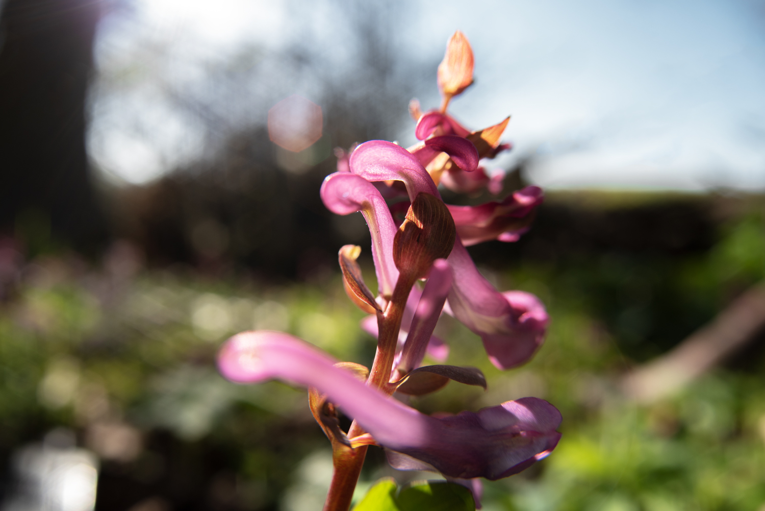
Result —
[[427, 277], [433, 261], [451, 253], [456, 233], [451, 213], [441, 199], [420, 193], [396, 232], [393, 262], [413, 279]]

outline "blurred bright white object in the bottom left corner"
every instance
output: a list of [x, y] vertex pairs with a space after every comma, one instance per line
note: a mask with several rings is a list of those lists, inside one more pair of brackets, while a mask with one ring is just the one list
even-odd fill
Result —
[[3, 511], [92, 511], [96, 506], [98, 460], [74, 447], [70, 431], [54, 430], [42, 444], [22, 447], [13, 465], [17, 486]]

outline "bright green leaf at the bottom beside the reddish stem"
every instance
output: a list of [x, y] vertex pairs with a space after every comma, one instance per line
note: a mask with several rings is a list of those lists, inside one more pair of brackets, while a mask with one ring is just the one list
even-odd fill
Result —
[[473, 494], [447, 481], [415, 481], [399, 490], [389, 477], [379, 480], [353, 511], [475, 511]]

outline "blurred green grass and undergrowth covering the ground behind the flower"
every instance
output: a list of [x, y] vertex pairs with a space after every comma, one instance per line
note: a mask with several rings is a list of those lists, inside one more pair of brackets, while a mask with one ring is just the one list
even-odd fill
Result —
[[[172, 509], [312, 509], [330, 466], [305, 392], [276, 382], [233, 385], [217, 374], [215, 354], [243, 329], [281, 329], [368, 365], [373, 339], [358, 327], [363, 313], [339, 276], [266, 286], [246, 274], [119, 270], [131, 267], [130, 257], [118, 251], [99, 268], [66, 254], [37, 257], [5, 283], [4, 480], [16, 447], [63, 426], [104, 460], [98, 509], [129, 509], [151, 496]], [[765, 278], [761, 208], [721, 223], [708, 251], [682, 257], [574, 254], [482, 270], [501, 289], [542, 298], [552, 317], [545, 345], [528, 365], [500, 372], [477, 336], [444, 317], [438, 333], [451, 346], [449, 362], [483, 369], [489, 389], [451, 383], [412, 404], [456, 412], [534, 395], [564, 417], [553, 454], [486, 483], [484, 509], [763, 509], [762, 339], [653, 405], [636, 405], [618, 388], [627, 369]], [[372, 269], [365, 274], [374, 287]], [[137, 447], [120, 450], [118, 430], [132, 432]], [[372, 454], [363, 483], [389, 473]]]

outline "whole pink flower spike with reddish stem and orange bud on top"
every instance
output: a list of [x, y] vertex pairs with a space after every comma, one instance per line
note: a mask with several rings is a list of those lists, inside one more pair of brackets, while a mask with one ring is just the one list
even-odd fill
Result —
[[[426, 352], [439, 362], [448, 356], [448, 346], [433, 335], [442, 313], [479, 335], [499, 369], [528, 361], [545, 336], [548, 316], [542, 303], [529, 293], [497, 291], [465, 248], [495, 239], [516, 241], [529, 228], [542, 191], [529, 186], [479, 206], [446, 205], [438, 191], [439, 184], [467, 193], [501, 189], [501, 176], [489, 177], [480, 162], [509, 149], [500, 144], [509, 118], [470, 132], [447, 113], [451, 98], [472, 80], [473, 53], [457, 32], [438, 68], [441, 109], [422, 113], [417, 103], [410, 105], [422, 142], [404, 149], [373, 140], [350, 155], [341, 152], [338, 172], [321, 186], [330, 211], [360, 211], [371, 233], [376, 294], [356, 262], [360, 247], [340, 248], [339, 262], [348, 296], [370, 314], [363, 327], [378, 339], [372, 368], [336, 362], [282, 332], [243, 332], [220, 352], [220, 370], [235, 382], [279, 378], [310, 388], [311, 411], [334, 450], [325, 509], [348, 508], [370, 444], [385, 448], [393, 467], [435, 470], [477, 490], [469, 480], [517, 473], [558, 443], [561, 416], [539, 398], [435, 417], [393, 397], [424, 395], [449, 380], [486, 387], [476, 368], [422, 365]], [[425, 280], [422, 289], [420, 280]], [[349, 431], [340, 428], [336, 407], [353, 418]]]

